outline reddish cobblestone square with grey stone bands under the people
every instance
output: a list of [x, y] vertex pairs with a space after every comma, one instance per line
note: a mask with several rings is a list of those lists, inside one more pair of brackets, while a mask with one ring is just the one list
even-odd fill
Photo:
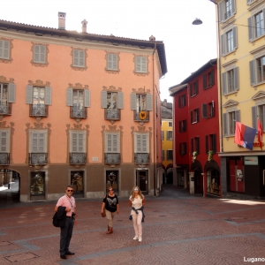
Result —
[[56, 201], [1, 204], [0, 264], [265, 264], [265, 201], [195, 197], [167, 186], [146, 200], [143, 241], [133, 240], [130, 207], [120, 198], [114, 233], [106, 235], [101, 200], [77, 200], [79, 224], [61, 260]]

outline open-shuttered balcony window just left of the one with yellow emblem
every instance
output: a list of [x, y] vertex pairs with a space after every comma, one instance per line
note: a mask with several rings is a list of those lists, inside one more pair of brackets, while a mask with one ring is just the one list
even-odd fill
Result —
[[102, 108], [105, 109], [105, 119], [119, 120], [120, 109], [124, 109], [123, 92], [102, 91]]

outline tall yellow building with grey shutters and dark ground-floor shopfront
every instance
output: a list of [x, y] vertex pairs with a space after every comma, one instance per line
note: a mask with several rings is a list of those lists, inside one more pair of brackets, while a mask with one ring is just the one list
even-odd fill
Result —
[[[216, 4], [223, 198], [265, 196], [265, 154], [234, 142], [236, 121], [265, 128], [265, 1], [211, 0]], [[263, 130], [264, 131], [264, 130]], [[265, 175], [264, 175], [265, 176]]]

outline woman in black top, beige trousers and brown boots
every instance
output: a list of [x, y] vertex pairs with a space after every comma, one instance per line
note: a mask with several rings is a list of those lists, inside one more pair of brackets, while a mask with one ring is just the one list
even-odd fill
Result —
[[113, 233], [113, 218], [115, 214], [117, 213], [118, 215], [118, 200], [117, 200], [117, 195], [114, 194], [114, 190], [112, 186], [109, 188], [109, 193], [106, 194], [106, 196], [103, 199], [102, 202], [102, 211], [101, 213], [103, 214], [104, 208], [106, 210], [106, 217], [108, 220], [108, 231], [107, 234]]

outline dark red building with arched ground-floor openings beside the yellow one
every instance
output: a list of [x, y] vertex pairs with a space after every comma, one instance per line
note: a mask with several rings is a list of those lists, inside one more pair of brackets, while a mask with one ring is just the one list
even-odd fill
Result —
[[204, 196], [221, 194], [216, 59], [180, 84], [173, 96], [173, 184]]

